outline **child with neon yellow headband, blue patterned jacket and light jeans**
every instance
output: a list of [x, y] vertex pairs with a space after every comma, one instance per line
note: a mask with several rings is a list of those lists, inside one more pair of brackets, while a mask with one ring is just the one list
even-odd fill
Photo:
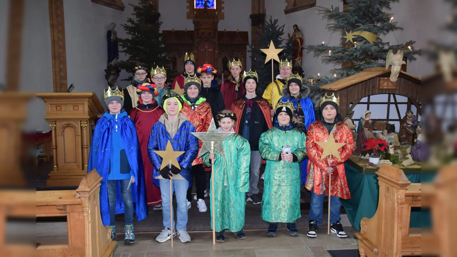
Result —
[[[153, 182], [160, 188], [162, 196], [162, 214], [165, 227], [155, 239], [159, 243], [170, 240], [172, 236], [178, 236], [183, 243], [191, 241], [191, 237], [186, 230], [186, 195], [187, 189], [191, 185], [192, 161], [197, 157], [198, 153], [198, 140], [191, 134], [192, 132], [195, 132], [192, 123], [187, 120], [186, 116], [180, 113], [183, 102], [181, 96], [175, 94], [166, 94], [162, 97], [162, 106], [165, 108], [165, 113], [162, 114], [159, 121], [154, 124], [149, 137], [149, 160], [154, 166]], [[185, 152], [177, 157], [180, 167], [175, 165], [171, 166], [171, 168], [169, 165], [163, 167], [163, 157], [155, 152], [168, 150], [167, 145], [169, 144], [172, 146], [172, 150]], [[173, 162], [171, 164], [173, 164]], [[173, 183], [176, 195], [177, 220], [176, 223], [173, 222], [173, 224], [176, 224], [177, 233], [175, 233], [174, 228], [171, 227], [170, 211], [172, 210], [170, 206], [170, 183]]]

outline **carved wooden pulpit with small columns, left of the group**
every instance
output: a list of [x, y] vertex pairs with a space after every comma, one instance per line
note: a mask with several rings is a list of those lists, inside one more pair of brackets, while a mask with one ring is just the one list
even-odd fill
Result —
[[87, 173], [95, 119], [103, 107], [95, 93], [37, 93], [46, 102], [53, 170], [46, 185], [77, 186]]

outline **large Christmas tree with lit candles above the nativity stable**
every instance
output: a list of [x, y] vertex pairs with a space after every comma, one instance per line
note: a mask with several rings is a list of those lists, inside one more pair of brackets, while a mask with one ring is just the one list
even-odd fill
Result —
[[[307, 52], [313, 52], [314, 57], [322, 57], [323, 63], [341, 64], [341, 68], [331, 70], [330, 76], [310, 75], [313, 79], [313, 94], [319, 94], [318, 87], [354, 75], [369, 67], [385, 67], [385, 60], [389, 50], [396, 53], [397, 50], [404, 51], [404, 59], [407, 63], [415, 60], [414, 55], [420, 54], [420, 49], [414, 49], [415, 41], [406, 43], [390, 44], [384, 42], [382, 37], [395, 30], [403, 30], [393, 20], [393, 14], [384, 12], [390, 10], [390, 4], [399, 0], [346, 0], [346, 8], [340, 11], [336, 8], [319, 8], [319, 14], [323, 19], [328, 19], [327, 29], [332, 32], [342, 33], [340, 46], [329, 46], [327, 44], [308, 45]], [[365, 37], [355, 36], [347, 41], [347, 33], [370, 32], [379, 38], [376, 43], [370, 43]], [[347, 42], [346, 42], [347, 41]], [[329, 52], [331, 51], [331, 52]], [[311, 83], [307, 82], [310, 86]], [[316, 91], [317, 90], [317, 91]]]

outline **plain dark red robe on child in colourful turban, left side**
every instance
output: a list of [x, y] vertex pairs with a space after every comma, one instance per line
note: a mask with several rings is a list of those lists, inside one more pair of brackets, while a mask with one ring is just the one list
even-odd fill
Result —
[[152, 126], [154, 123], [158, 122], [160, 116], [165, 113], [164, 109], [158, 106], [155, 102], [156, 101], [154, 101], [153, 104], [145, 106], [138, 101], [138, 106], [134, 107], [130, 112], [130, 118], [133, 120], [133, 123], [135, 123], [135, 127], [137, 129], [141, 157], [143, 158], [144, 180], [146, 182], [146, 199], [148, 201], [148, 206], [162, 204], [160, 189], [152, 182], [154, 166], [152, 166], [148, 156], [148, 142]]

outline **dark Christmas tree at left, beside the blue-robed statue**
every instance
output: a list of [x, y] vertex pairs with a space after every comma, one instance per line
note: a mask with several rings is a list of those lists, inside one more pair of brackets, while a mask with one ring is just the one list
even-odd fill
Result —
[[150, 1], [142, 0], [138, 5], [129, 5], [133, 6], [132, 15], [135, 18], [130, 17], [127, 24], [121, 25], [129, 37], [119, 39], [120, 52], [126, 54], [126, 60], [118, 61], [116, 66], [130, 74], [136, 64], [143, 64], [149, 69], [156, 65], [166, 67], [165, 46], [162, 44], [162, 33], [159, 33], [162, 24], [159, 22], [160, 14]]

